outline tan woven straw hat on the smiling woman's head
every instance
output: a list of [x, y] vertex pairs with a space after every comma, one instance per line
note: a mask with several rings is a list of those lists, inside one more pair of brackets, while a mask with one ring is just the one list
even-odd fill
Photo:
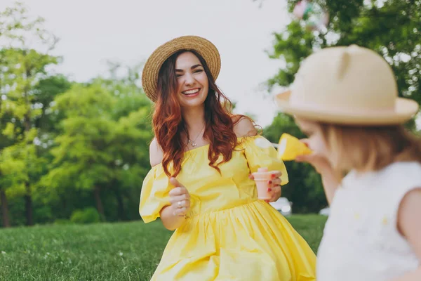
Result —
[[180, 50], [194, 50], [199, 53], [208, 64], [213, 80], [218, 78], [221, 68], [221, 58], [218, 49], [210, 41], [197, 36], [183, 36], [156, 48], [148, 58], [142, 71], [142, 87], [146, 96], [153, 102], [158, 99], [158, 73], [163, 63]]

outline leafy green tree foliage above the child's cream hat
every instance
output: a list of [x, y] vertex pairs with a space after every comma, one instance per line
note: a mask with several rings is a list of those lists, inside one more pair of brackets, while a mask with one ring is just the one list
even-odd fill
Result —
[[[297, 2], [288, 0], [290, 11]], [[394, 69], [399, 94], [421, 103], [420, 0], [316, 2], [330, 15], [326, 32], [311, 32], [293, 20], [286, 30], [275, 33], [271, 58], [283, 60], [286, 67], [269, 80], [269, 86], [292, 83], [302, 59], [319, 48], [358, 44], [383, 55]]]

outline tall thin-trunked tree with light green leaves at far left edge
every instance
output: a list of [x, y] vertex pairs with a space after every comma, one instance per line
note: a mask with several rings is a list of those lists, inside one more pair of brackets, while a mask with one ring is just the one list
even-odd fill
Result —
[[[32, 178], [39, 172], [39, 167], [34, 165], [38, 162], [34, 143], [38, 131], [34, 122], [42, 112], [41, 104], [36, 103], [34, 87], [46, 77], [46, 67], [58, 63], [58, 58], [48, 54], [58, 40], [44, 29], [43, 22], [41, 18], [30, 18], [20, 3], [0, 13], [0, 40], [6, 46], [1, 51], [0, 89], [3, 96], [0, 118], [4, 126], [2, 133], [8, 138], [8, 143], [3, 145], [14, 151], [13, 157], [2, 159], [25, 163], [25, 168], [20, 171], [25, 175], [18, 178], [25, 181], [25, 209], [29, 226], [33, 224]], [[41, 51], [35, 50], [34, 46]], [[0, 188], [4, 190], [6, 187]], [[6, 200], [6, 192], [1, 193], [1, 198]], [[7, 204], [4, 206], [7, 208]]]

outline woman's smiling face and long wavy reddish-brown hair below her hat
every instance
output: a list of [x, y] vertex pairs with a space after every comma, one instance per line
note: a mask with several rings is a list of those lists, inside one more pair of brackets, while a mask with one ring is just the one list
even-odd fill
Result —
[[[207, 145], [212, 140], [209, 164], [218, 169], [215, 162], [219, 155], [223, 155], [222, 162], [226, 162], [232, 149], [238, 145], [232, 130], [232, 115], [220, 103], [221, 100], [226, 104], [230, 102], [208, 77], [212, 77], [208, 64], [194, 50], [175, 52], [159, 70], [156, 87], [159, 96], [153, 124], [156, 141], [163, 150], [163, 158], [159, 162], [162, 162], [168, 176], [170, 162], [174, 165], [173, 176], [180, 172], [185, 150]], [[202, 119], [203, 115], [208, 119], [208, 126]]]

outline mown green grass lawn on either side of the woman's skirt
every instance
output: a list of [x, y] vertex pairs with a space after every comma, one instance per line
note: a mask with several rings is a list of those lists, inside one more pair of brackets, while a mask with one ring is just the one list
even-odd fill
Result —
[[[326, 218], [288, 221], [316, 251]], [[0, 280], [149, 280], [170, 236], [159, 221], [3, 228]]]

